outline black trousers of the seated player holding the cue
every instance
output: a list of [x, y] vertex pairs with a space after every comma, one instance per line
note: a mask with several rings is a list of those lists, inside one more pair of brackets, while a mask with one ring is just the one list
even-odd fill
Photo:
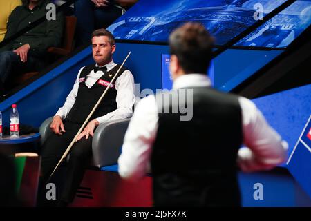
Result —
[[[44, 186], [53, 172], [53, 169], [59, 162], [60, 158], [66, 151], [66, 148], [79, 131], [82, 124], [74, 124], [72, 122], [64, 122], [66, 133], [56, 135], [53, 133], [44, 142], [41, 148], [41, 179], [39, 186], [39, 194], [44, 193]], [[75, 192], [79, 188], [82, 181], [84, 171], [88, 166], [92, 155], [92, 137], [88, 140], [83, 137], [78, 142], [75, 142], [70, 150], [70, 157], [66, 169], [66, 180], [64, 180], [64, 188], [60, 200], [62, 202], [70, 203], [75, 197]], [[57, 171], [55, 172], [57, 173]], [[42, 192], [43, 191], [43, 192]]]

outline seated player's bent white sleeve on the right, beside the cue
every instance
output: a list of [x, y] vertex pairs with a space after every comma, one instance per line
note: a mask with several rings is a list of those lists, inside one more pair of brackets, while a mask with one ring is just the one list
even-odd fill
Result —
[[135, 104], [134, 95], [134, 77], [129, 70], [125, 70], [115, 81], [115, 89], [117, 90], [117, 109], [111, 111], [96, 120], [102, 124], [116, 119], [126, 119], [133, 114], [133, 105]]

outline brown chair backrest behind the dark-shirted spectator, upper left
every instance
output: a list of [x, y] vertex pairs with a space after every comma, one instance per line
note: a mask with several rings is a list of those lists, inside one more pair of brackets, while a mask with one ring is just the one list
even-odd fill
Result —
[[73, 50], [73, 37], [75, 36], [75, 26], [77, 24], [77, 18], [74, 16], [66, 16], [65, 22], [66, 23], [63, 48], [71, 52]]

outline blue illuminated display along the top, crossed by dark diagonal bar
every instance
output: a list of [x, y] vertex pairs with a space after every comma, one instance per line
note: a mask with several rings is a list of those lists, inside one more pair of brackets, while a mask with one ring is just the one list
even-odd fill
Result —
[[[223, 45], [272, 12], [285, 0], [140, 0], [109, 26], [116, 39], [167, 42], [171, 31], [186, 21], [203, 23]], [[311, 1], [296, 1], [238, 46], [283, 48], [311, 22]]]

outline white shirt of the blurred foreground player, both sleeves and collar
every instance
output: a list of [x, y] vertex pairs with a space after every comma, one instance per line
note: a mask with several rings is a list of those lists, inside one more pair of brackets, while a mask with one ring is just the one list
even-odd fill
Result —
[[[173, 90], [190, 86], [211, 86], [206, 75], [182, 75], [173, 82]], [[261, 111], [245, 97], [239, 97], [242, 110], [243, 137], [246, 147], [238, 151], [238, 165], [242, 171], [272, 169], [287, 156], [288, 144], [267, 124]], [[176, 128], [178, 129], [178, 128]], [[156, 97], [141, 99], [124, 137], [119, 157], [119, 173], [129, 180], [137, 180], [149, 171], [153, 142], [158, 131]], [[225, 153], [224, 153], [225, 154]]]

